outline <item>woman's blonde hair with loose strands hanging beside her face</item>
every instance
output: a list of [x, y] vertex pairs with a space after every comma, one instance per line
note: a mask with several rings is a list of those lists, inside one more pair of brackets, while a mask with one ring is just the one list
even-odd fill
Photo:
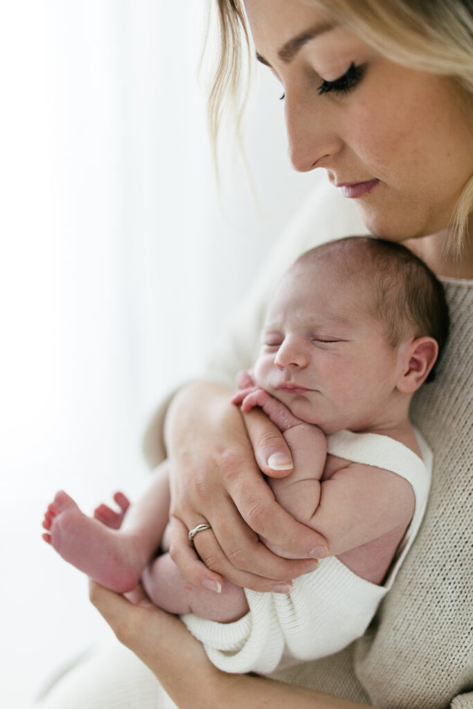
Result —
[[[473, 12], [470, 0], [304, 0], [305, 4], [327, 11], [335, 21], [352, 30], [364, 42], [397, 64], [419, 71], [440, 74], [457, 82], [466, 97], [467, 111], [473, 115]], [[216, 0], [221, 51], [208, 101], [208, 121], [213, 145], [226, 96], [233, 101], [235, 130], [240, 122], [245, 98], [238, 94], [245, 48], [250, 43], [242, 0]], [[464, 186], [450, 221], [457, 256], [468, 236], [468, 219], [473, 208], [473, 177]]]

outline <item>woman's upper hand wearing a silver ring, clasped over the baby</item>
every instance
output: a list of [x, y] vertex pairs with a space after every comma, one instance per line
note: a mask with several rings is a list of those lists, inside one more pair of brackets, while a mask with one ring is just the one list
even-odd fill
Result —
[[[216, 590], [221, 574], [256, 591], [286, 592], [291, 579], [327, 555], [327, 544], [277, 504], [261, 474], [284, 477], [291, 472], [281, 432], [258, 409], [243, 420], [230, 394], [216, 384], [193, 384], [177, 394], [169, 409], [169, 551], [194, 584], [206, 581]], [[206, 567], [188, 538], [188, 530], [201, 523], [212, 527], [194, 537]], [[298, 559], [272, 554], [260, 536]]]

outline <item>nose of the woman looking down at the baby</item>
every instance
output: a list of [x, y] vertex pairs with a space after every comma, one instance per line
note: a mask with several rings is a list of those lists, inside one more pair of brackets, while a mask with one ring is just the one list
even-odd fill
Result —
[[343, 140], [335, 132], [325, 96], [308, 99], [286, 91], [285, 101], [289, 158], [294, 169], [309, 172], [316, 167], [330, 167]]

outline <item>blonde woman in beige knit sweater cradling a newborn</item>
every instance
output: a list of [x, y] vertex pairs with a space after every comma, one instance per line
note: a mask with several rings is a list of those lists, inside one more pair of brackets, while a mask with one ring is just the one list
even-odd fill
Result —
[[[230, 40], [235, 42], [242, 14], [238, 2], [220, 0], [219, 6], [223, 77], [237, 64]], [[254, 296], [252, 316], [244, 314], [244, 330], [237, 325], [228, 351], [217, 353], [217, 367], [230, 381], [237, 367], [252, 361], [256, 343], [248, 333], [257, 332], [279, 272], [316, 240], [359, 230], [352, 217], [344, 220], [347, 202], [340, 205], [340, 199], [354, 201], [369, 230], [415, 250], [443, 277], [447, 291], [450, 342], [437, 381], [419, 394], [412, 411], [435, 459], [428, 512], [367, 634], [335, 656], [279, 671], [284, 683], [221, 674], [179, 620], [145, 601], [131, 605], [96, 584], [91, 599], [179, 707], [472, 709], [472, 5], [246, 0], [245, 11], [257, 57], [283, 86], [294, 167], [323, 167], [340, 194], [328, 186], [333, 197], [323, 191], [311, 205], [312, 241], [302, 230], [282, 244]], [[236, 359], [235, 343], [245, 352]], [[157, 449], [156, 428], [151, 436]], [[308, 558], [326, 553], [324, 540], [294, 520], [287, 535], [286, 515], [272, 502], [255, 457], [266, 474], [284, 474], [289, 452], [261, 413], [243, 420], [221, 384], [194, 384], [174, 397], [166, 444], [174, 488], [172, 553], [189, 581], [216, 583], [223, 574], [266, 591], [301, 573]], [[151, 457], [157, 462], [159, 455]], [[208, 568], [187, 537], [200, 523], [211, 525], [194, 538]], [[303, 561], [272, 556], [255, 532]], [[96, 669], [99, 684], [88, 701], [83, 686], [94, 680], [83, 665], [76, 688], [66, 683], [45, 706], [62, 700], [72, 707], [74, 693], [82, 707], [172, 706], [137, 664], [120, 662], [125, 679], [107, 681]], [[110, 663], [110, 657], [102, 659], [101, 669]], [[92, 664], [100, 667], [98, 660]]]

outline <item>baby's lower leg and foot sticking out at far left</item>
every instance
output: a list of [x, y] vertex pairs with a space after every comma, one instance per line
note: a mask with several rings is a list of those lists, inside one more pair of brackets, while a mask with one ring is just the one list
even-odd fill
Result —
[[151, 485], [128, 510], [121, 529], [87, 517], [65, 492], [48, 506], [43, 527], [46, 542], [65, 559], [112, 591], [125, 593], [138, 584], [141, 572], [160, 544], [169, 516], [169, 484], [163, 464]]

